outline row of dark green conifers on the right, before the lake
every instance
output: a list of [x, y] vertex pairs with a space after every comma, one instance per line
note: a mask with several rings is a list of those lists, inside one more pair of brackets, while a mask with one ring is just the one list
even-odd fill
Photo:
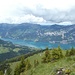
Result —
[[75, 49], [73, 47], [70, 50], [66, 50], [65, 54], [62, 51], [63, 50], [60, 48], [60, 46], [58, 46], [58, 48], [52, 49], [52, 51], [46, 48], [44, 57], [42, 58], [42, 62], [53, 62], [63, 57], [70, 57], [75, 55]]

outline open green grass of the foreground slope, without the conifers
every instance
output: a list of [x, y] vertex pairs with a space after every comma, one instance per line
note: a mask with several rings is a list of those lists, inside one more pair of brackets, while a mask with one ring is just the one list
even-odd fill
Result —
[[[49, 52], [52, 53], [52, 51], [53, 50], [50, 50]], [[26, 70], [27, 67], [24, 67], [24, 70], [22, 68], [23, 71], [20, 73], [20, 75], [58, 75], [57, 72], [61, 69], [63, 69], [63, 74], [60, 75], [68, 75], [68, 73], [69, 75], [75, 75], [75, 55], [65, 56], [66, 51], [62, 51], [63, 58], [43, 63], [42, 58], [45, 57], [45, 52], [46, 51], [26, 58], [24, 63], [26, 63], [28, 60], [31, 64], [31, 68], [28, 70]], [[71, 50], [69, 50], [69, 52], [71, 53]], [[34, 66], [34, 62], [36, 60], [38, 61], [38, 64]], [[10, 64], [10, 67], [12, 68], [12, 75], [14, 75], [16, 66], [18, 67], [20, 64], [21, 61]], [[18, 69], [16, 70], [18, 71]]]

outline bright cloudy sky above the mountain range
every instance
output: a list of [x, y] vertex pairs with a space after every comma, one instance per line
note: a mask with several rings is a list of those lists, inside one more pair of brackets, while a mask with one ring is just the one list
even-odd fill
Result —
[[0, 23], [75, 24], [75, 0], [0, 0]]

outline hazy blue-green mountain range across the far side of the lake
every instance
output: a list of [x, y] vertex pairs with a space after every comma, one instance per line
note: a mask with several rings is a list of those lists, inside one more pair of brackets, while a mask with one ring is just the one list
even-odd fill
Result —
[[75, 43], [75, 25], [0, 24], [0, 37], [35, 42]]

